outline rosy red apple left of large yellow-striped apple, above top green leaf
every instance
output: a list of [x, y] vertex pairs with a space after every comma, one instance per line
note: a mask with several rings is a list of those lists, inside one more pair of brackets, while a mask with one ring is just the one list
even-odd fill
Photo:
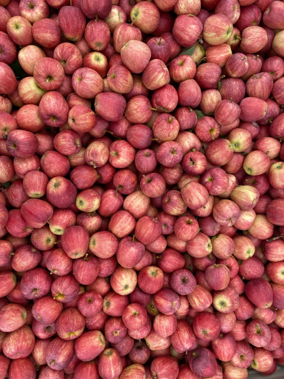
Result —
[[173, 36], [179, 45], [192, 47], [198, 41], [202, 28], [203, 25], [198, 17], [192, 14], [181, 14], [175, 19]]

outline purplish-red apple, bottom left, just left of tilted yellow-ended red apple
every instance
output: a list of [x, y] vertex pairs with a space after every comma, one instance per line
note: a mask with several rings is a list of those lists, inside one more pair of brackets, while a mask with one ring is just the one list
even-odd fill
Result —
[[62, 370], [72, 361], [73, 355], [74, 341], [64, 341], [57, 337], [47, 347], [47, 365], [53, 370]]

